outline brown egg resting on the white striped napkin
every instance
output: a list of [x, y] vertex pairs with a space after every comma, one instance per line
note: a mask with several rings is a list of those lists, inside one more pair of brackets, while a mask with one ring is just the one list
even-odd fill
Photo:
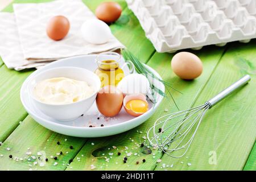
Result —
[[46, 28], [47, 35], [53, 40], [63, 39], [69, 31], [70, 24], [65, 16], [53, 16]]

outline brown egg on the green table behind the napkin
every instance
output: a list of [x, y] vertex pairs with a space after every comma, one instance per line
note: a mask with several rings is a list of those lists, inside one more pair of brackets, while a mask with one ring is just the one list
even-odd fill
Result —
[[116, 2], [103, 2], [95, 11], [97, 18], [105, 23], [115, 22], [121, 16], [121, 13], [122, 8]]

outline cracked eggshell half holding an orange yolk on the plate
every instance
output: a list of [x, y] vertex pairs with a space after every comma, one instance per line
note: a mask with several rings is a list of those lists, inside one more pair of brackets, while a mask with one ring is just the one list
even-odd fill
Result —
[[123, 107], [128, 114], [139, 117], [148, 111], [148, 102], [144, 94], [134, 94], [123, 99]]

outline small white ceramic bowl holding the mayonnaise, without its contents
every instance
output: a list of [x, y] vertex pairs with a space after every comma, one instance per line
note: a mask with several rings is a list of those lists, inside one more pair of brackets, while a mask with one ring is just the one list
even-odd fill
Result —
[[[54, 77], [67, 77], [74, 80], [86, 81], [89, 86], [94, 88], [94, 93], [92, 96], [72, 104], [53, 105], [39, 101], [33, 94], [36, 84], [40, 81]], [[47, 71], [41, 72], [32, 77], [27, 86], [28, 94], [35, 106], [38, 107], [42, 113], [59, 121], [72, 121], [86, 113], [96, 100], [96, 96], [100, 88], [101, 81], [95, 73], [87, 69], [77, 67], [48, 69]]]

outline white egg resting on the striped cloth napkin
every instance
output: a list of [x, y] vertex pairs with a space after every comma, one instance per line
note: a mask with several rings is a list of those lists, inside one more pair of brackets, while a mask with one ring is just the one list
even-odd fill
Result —
[[86, 20], [81, 26], [82, 36], [91, 44], [104, 44], [112, 37], [108, 24], [99, 19]]

